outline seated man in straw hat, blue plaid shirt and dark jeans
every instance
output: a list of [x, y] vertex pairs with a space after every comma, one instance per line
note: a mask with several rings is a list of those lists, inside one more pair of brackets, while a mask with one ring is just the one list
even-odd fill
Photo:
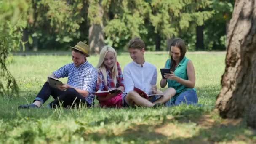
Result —
[[89, 47], [83, 42], [77, 43], [72, 49], [72, 63], [66, 64], [54, 71], [48, 77], [61, 78], [68, 77], [67, 84], [57, 85], [53, 88], [49, 82], [45, 82], [40, 92], [37, 94], [32, 104], [20, 105], [19, 108], [37, 108], [53, 96], [52, 101], [47, 106], [50, 108], [73, 107], [86, 104], [88, 107], [93, 105], [94, 96], [91, 92], [95, 91], [97, 71], [88, 63], [87, 57], [90, 55]]

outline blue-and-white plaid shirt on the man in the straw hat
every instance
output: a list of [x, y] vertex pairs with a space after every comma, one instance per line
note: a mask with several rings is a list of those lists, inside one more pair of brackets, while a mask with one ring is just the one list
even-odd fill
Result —
[[78, 67], [75, 67], [74, 63], [66, 64], [53, 74], [56, 78], [68, 77], [68, 85], [88, 91], [89, 94], [85, 97], [85, 100], [88, 104], [93, 105], [94, 95], [91, 93], [95, 91], [98, 73], [88, 61]]

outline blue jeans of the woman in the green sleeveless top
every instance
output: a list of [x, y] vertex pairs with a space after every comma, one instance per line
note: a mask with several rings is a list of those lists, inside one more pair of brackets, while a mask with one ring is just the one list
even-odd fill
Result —
[[171, 107], [173, 105], [184, 104], [196, 104], [198, 102], [197, 93], [194, 90], [187, 90], [180, 93], [175, 98], [170, 99], [165, 102], [166, 107]]

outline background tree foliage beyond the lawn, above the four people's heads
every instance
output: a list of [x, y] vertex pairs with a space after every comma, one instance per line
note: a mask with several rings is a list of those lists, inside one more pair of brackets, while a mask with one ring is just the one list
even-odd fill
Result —
[[[181, 37], [195, 50], [196, 27], [204, 27], [208, 50], [223, 49], [233, 0], [31, 0], [27, 5], [25, 50], [67, 49], [88, 41], [91, 24], [104, 27], [105, 43], [123, 51], [128, 41], [141, 37], [147, 50], [160, 50], [165, 40]], [[102, 8], [99, 10], [99, 8]], [[214, 21], [214, 22], [213, 22]], [[27, 34], [26, 34], [27, 31]], [[27, 49], [28, 47], [28, 49]]]

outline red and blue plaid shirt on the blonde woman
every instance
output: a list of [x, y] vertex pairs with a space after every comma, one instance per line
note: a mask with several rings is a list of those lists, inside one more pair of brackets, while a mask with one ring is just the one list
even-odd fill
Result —
[[[107, 69], [107, 67], [106, 67]], [[107, 84], [104, 81], [104, 76], [102, 72], [99, 70], [98, 71], [98, 79], [97, 79], [97, 84], [96, 84], [96, 91], [107, 91], [110, 88], [118, 88], [119, 86], [124, 87], [124, 82], [123, 82], [123, 74], [122, 74], [122, 69], [117, 62], [117, 84], [115, 85], [114, 80], [112, 79], [112, 74], [109, 69], [107, 69]]]

